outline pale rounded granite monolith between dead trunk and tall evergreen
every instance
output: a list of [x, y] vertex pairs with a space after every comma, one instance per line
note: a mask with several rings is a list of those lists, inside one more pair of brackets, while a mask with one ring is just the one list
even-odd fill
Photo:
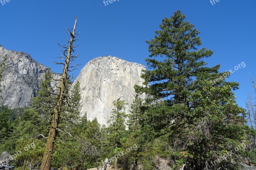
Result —
[[144, 82], [140, 78], [142, 70], [146, 67], [113, 56], [91, 60], [76, 79], [81, 86], [81, 114], [86, 112], [88, 120], [96, 117], [100, 124], [107, 124], [114, 100], [128, 103], [125, 112], [129, 114], [136, 95], [133, 86]]

